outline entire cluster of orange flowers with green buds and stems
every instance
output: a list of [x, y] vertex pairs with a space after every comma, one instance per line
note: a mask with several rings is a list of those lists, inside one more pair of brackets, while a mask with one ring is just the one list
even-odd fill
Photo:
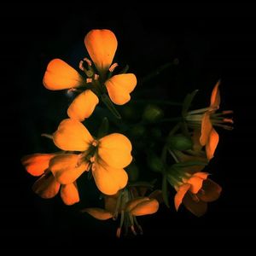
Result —
[[[95, 121], [91, 115], [100, 104], [108, 108], [114, 119], [121, 119], [116, 105], [131, 100], [137, 77], [127, 73], [128, 66], [116, 68], [119, 65], [113, 59], [118, 41], [113, 32], [91, 30], [84, 44], [89, 56], [78, 63], [79, 70], [54, 59], [44, 73], [45, 88], [73, 91], [76, 96], [67, 108], [68, 118], [61, 121], [55, 132], [46, 135], [59, 151], [21, 159], [26, 171], [38, 177], [33, 191], [49, 199], [60, 190], [62, 201], [73, 205], [79, 202], [79, 177], [93, 177], [104, 207], [86, 206], [81, 212], [99, 220], [119, 219], [118, 237], [123, 227], [126, 233], [131, 230], [134, 235], [142, 234], [137, 216], [157, 212], [161, 203], [172, 209], [170, 196], [174, 190], [176, 210], [183, 204], [196, 216], [203, 215], [207, 203], [217, 200], [222, 190], [205, 170], [218, 146], [215, 127], [231, 130], [233, 124], [229, 117], [232, 111], [218, 112], [220, 82], [214, 86], [207, 108], [189, 109], [197, 90], [185, 96], [180, 116], [175, 119], [177, 124], [167, 134], [160, 129], [165, 120], [162, 109], [148, 101], [136, 124], [119, 125], [120, 132], [109, 133], [111, 123], [102, 117], [98, 131], [91, 131], [92, 135], [85, 120]], [[138, 179], [140, 161], [146, 172], [155, 174], [156, 180]]]

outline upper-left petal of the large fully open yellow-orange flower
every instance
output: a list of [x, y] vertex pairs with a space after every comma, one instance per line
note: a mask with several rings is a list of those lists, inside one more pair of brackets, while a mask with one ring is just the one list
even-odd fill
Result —
[[53, 134], [53, 141], [62, 150], [85, 151], [93, 142], [93, 137], [78, 120], [64, 119]]

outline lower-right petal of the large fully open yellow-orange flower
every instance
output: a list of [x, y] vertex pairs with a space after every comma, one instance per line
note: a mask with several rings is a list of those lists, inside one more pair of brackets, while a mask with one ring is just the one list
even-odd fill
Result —
[[128, 175], [124, 169], [116, 169], [108, 166], [103, 161], [96, 161], [92, 165], [92, 175], [97, 188], [106, 195], [114, 195], [119, 189], [125, 188]]

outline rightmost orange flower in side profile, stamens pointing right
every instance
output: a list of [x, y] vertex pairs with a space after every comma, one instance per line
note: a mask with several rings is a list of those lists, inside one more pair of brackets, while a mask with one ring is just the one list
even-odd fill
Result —
[[200, 143], [202, 146], [206, 146], [208, 160], [212, 159], [218, 145], [218, 132], [213, 128], [213, 125], [231, 130], [232, 127], [226, 124], [233, 124], [232, 119], [224, 117], [226, 114], [233, 113], [232, 111], [216, 113], [220, 104], [219, 84], [220, 81], [217, 82], [212, 90], [211, 104], [208, 108], [189, 111], [185, 117], [192, 128], [198, 129], [201, 127]]

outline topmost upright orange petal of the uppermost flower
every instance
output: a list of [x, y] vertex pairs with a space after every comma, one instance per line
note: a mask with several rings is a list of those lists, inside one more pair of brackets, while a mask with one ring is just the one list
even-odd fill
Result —
[[105, 73], [110, 67], [117, 49], [117, 39], [108, 29], [94, 29], [84, 38], [85, 47], [100, 73]]

